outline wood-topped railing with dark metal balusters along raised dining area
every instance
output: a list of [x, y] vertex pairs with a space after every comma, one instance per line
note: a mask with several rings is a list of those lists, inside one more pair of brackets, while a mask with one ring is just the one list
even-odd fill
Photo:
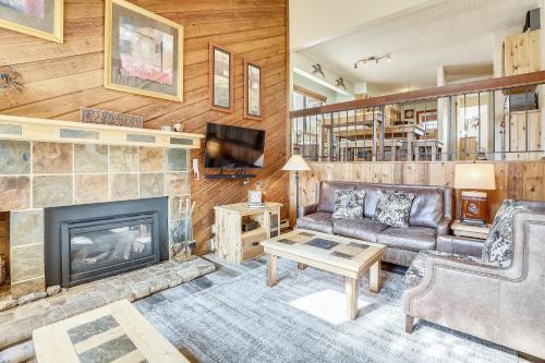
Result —
[[310, 161], [536, 160], [545, 71], [290, 112]]

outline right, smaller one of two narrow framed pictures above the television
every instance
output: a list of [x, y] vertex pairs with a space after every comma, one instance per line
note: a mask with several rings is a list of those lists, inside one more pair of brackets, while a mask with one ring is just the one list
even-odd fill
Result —
[[244, 61], [244, 118], [263, 119], [263, 69]]

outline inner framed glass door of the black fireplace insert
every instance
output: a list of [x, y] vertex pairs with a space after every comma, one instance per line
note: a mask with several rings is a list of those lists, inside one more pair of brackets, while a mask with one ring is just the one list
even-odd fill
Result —
[[62, 285], [73, 286], [157, 263], [156, 219], [150, 213], [63, 223]]

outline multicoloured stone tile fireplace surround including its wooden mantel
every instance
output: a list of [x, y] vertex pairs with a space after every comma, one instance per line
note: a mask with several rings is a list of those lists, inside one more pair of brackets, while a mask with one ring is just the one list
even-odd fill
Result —
[[[37, 123], [47, 128], [48, 122], [58, 132], [44, 137], [33, 133], [33, 120], [0, 117], [0, 211], [9, 211], [4, 250], [12, 299], [46, 289], [45, 208], [168, 196], [172, 258], [173, 244], [191, 239], [189, 149], [199, 145], [201, 135], [193, 135], [197, 142], [187, 136], [189, 143], [175, 137], [166, 143], [156, 131], [148, 135], [137, 129], [47, 120]], [[98, 137], [86, 138], [82, 133], [88, 132], [86, 129]], [[72, 130], [64, 132], [69, 135], [65, 140], [62, 130]], [[181, 137], [167, 134], [173, 135]]]

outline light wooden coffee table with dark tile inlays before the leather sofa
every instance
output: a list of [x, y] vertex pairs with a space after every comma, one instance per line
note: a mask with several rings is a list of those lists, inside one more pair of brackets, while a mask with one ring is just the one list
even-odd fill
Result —
[[267, 255], [269, 287], [278, 282], [278, 257], [296, 262], [300, 269], [312, 266], [344, 276], [350, 319], [358, 316], [359, 279], [363, 274], [370, 271], [372, 292], [380, 290], [380, 258], [385, 245], [303, 229], [263, 241], [262, 245]]

